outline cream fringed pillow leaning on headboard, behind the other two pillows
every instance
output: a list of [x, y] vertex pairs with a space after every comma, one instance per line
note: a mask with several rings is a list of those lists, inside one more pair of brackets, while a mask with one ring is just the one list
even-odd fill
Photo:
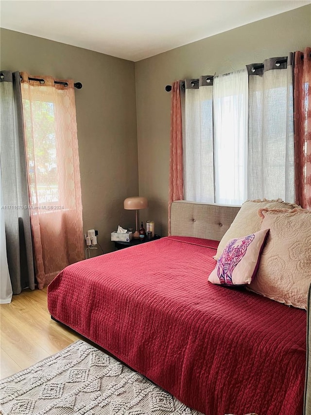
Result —
[[230, 239], [241, 238], [242, 236], [254, 234], [260, 230], [261, 218], [257, 214], [258, 209], [294, 209], [296, 207], [298, 206], [295, 203], [286, 203], [283, 202], [282, 199], [246, 200], [246, 202], [242, 204], [238, 215], [231, 223], [230, 228], [227, 230], [222, 240], [219, 242], [217, 253], [214, 258], [220, 258], [226, 244]]

